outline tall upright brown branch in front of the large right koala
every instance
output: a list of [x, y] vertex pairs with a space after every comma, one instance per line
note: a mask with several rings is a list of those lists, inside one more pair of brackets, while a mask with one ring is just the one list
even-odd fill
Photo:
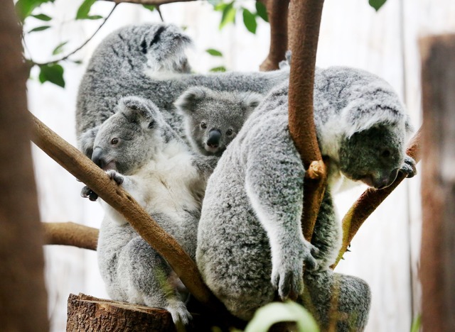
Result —
[[306, 239], [326, 189], [326, 166], [322, 161], [313, 114], [314, 70], [323, 0], [292, 0], [289, 8], [289, 45], [292, 51], [289, 77], [289, 132], [306, 169], [317, 169], [304, 182], [302, 229]]

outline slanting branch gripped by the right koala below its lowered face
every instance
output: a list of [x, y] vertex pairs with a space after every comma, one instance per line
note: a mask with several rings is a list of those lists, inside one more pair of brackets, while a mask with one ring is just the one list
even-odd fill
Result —
[[[422, 128], [420, 128], [414, 135], [406, 150], [407, 155], [414, 158], [416, 162], [419, 162], [421, 157], [421, 135]], [[351, 206], [349, 211], [346, 213], [346, 216], [343, 218], [343, 245], [341, 246], [341, 250], [335, 264], [331, 266], [332, 268], [335, 268], [336, 265], [338, 265], [338, 262], [340, 262], [344, 253], [346, 253], [350, 241], [353, 240], [355, 233], [357, 233], [363, 222], [405, 178], [405, 174], [400, 172], [397, 179], [395, 179], [395, 182], [393, 182], [389, 187], [380, 190], [369, 188], [363, 192], [357, 201], [355, 201], [353, 206]]]

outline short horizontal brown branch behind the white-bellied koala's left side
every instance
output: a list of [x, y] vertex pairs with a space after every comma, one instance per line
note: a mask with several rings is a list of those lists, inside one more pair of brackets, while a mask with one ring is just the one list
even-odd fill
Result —
[[78, 223], [42, 223], [46, 245], [74, 245], [77, 248], [97, 250], [97, 228]]

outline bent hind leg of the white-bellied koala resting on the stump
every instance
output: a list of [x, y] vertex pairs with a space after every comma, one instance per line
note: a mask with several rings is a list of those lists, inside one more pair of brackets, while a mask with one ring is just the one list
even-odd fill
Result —
[[167, 262], [138, 236], [119, 253], [117, 275], [127, 301], [166, 309], [176, 324], [188, 324], [191, 314], [173, 287]]

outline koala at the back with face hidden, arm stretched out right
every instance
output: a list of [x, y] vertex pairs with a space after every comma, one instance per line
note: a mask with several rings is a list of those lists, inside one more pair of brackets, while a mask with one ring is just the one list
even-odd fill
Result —
[[100, 43], [82, 77], [76, 105], [78, 147], [92, 153], [98, 126], [114, 113], [122, 96], [141, 96], [163, 111], [182, 138], [183, 121], [173, 102], [193, 86], [218, 91], [266, 93], [289, 78], [289, 69], [274, 72], [189, 74], [184, 53], [191, 39], [166, 24], [126, 26]]

